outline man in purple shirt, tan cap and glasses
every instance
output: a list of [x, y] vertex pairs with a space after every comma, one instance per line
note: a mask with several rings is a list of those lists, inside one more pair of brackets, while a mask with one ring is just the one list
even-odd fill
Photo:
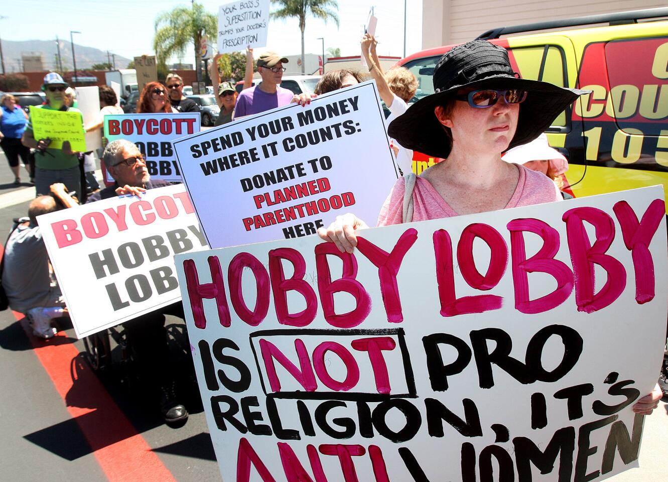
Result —
[[262, 76], [262, 82], [241, 91], [234, 108], [235, 119], [290, 104], [293, 92], [280, 87], [285, 72], [283, 64], [287, 62], [287, 58], [274, 52], [265, 52], [257, 59], [257, 72]]

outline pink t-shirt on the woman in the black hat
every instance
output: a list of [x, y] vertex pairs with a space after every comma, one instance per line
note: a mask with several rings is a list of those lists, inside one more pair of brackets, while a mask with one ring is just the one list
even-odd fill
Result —
[[[562, 200], [556, 185], [545, 174], [530, 170], [519, 164], [516, 165], [520, 170], [520, 179], [505, 209]], [[404, 181], [403, 177], [397, 179], [380, 210], [377, 226], [403, 223]], [[446, 203], [446, 200], [441, 197], [428, 180], [418, 176], [415, 180], [415, 189], [413, 189], [413, 221], [427, 221], [428, 219], [453, 216], [458, 216], [458, 214]]]

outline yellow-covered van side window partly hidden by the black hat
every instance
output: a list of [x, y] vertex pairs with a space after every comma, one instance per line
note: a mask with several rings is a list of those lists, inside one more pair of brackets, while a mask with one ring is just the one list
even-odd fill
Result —
[[[556, 45], [532, 45], [509, 48], [508, 53], [517, 63], [523, 79], [541, 80], [555, 86], [566, 86], [566, 64], [562, 50]], [[552, 122], [552, 126], [566, 126], [566, 112]]]

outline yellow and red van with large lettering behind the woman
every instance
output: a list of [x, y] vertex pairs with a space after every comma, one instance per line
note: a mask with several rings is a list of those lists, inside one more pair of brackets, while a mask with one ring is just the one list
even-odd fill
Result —
[[[668, 8], [646, 9], [504, 27], [478, 37], [508, 49], [522, 78], [593, 91], [546, 131], [570, 163], [567, 193], [581, 197], [657, 184], [668, 193], [667, 19]], [[569, 29], [580, 25], [590, 26]], [[546, 29], [560, 30], [500, 38]], [[434, 67], [452, 47], [399, 62], [420, 82], [416, 97], [434, 93]], [[413, 170], [420, 174], [439, 161], [415, 152]]]

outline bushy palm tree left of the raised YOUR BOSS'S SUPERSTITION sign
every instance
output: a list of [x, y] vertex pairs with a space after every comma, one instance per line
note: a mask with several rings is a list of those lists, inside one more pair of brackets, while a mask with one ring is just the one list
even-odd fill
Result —
[[153, 37], [153, 49], [158, 63], [165, 64], [172, 55], [184, 55], [188, 44], [195, 49], [195, 72], [197, 80], [201, 77], [200, 42], [202, 36], [218, 36], [218, 18], [204, 10], [201, 3], [193, 3], [192, 8], [175, 7], [162, 12], [156, 18], [156, 35]]

